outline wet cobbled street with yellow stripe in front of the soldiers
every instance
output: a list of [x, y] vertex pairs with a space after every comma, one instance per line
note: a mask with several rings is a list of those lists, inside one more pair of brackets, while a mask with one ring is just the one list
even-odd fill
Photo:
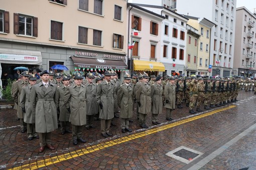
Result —
[[[39, 153], [39, 139], [28, 140], [21, 133], [16, 110], [0, 110], [0, 168], [3, 169], [256, 169], [256, 95], [240, 91], [239, 101], [198, 114], [182, 109], [173, 111], [174, 121], [160, 120], [141, 129], [136, 113], [131, 133], [111, 126], [112, 137], [96, 129], [84, 129], [86, 143], [72, 143], [72, 134], [52, 133], [55, 150]], [[203, 107], [201, 108], [203, 109]], [[169, 156], [170, 155], [170, 156]], [[180, 156], [184, 156], [182, 158]]]

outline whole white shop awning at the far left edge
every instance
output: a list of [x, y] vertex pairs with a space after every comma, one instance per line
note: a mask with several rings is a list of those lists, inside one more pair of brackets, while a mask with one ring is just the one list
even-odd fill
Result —
[[0, 48], [0, 63], [42, 65], [40, 51]]

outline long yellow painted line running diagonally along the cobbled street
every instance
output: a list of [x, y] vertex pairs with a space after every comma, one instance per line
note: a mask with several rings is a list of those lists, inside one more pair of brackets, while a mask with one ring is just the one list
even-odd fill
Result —
[[100, 150], [100, 149], [111, 147], [111, 146], [119, 144], [119, 143], [124, 143], [126, 141], [130, 141], [130, 140], [140, 138], [140, 137], [143, 137], [143, 136], [146, 136], [146, 135], [149, 135], [149, 134], [153, 134], [153, 133], [156, 133], [156, 132], [159, 132], [159, 131], [163, 131], [165, 129], [172, 128], [172, 127], [175, 127], [175, 126], [178, 126], [178, 125], [181, 125], [181, 124], [184, 124], [184, 123], [187, 123], [187, 122], [190, 122], [190, 121], [202, 118], [202, 117], [206, 117], [206, 116], [212, 115], [214, 113], [224, 111], [224, 110], [227, 110], [227, 109], [230, 109], [230, 108], [233, 108], [233, 107], [236, 107], [236, 106], [235, 105], [230, 105], [230, 106], [220, 108], [220, 109], [216, 109], [216, 110], [204, 113], [204, 114], [193, 116], [193, 117], [190, 117], [190, 118], [187, 118], [187, 119], [184, 119], [184, 120], [176, 121], [176, 122], [166, 124], [166, 125], [163, 125], [163, 126], [159, 126], [159, 127], [153, 128], [153, 129], [149, 129], [149, 130], [146, 130], [146, 131], [142, 131], [142, 132], [139, 132], [139, 133], [135, 133], [135, 134], [131, 134], [131, 135], [128, 135], [128, 136], [123, 136], [123, 137], [120, 137], [120, 138], [117, 138], [117, 139], [113, 139], [113, 140], [110, 140], [110, 141], [106, 141], [104, 143], [91, 145], [91, 146], [88, 146], [86, 148], [78, 149], [78, 150], [75, 150], [75, 151], [72, 151], [72, 152], [64, 153], [64, 154], [57, 155], [57, 156], [47, 158], [47, 159], [44, 159], [44, 160], [37, 160], [36, 162], [24, 164], [24, 165], [21, 165], [21, 166], [18, 166], [18, 167], [14, 167], [12, 169], [38, 169], [38, 168], [41, 168], [41, 167], [45, 167], [47, 165], [51, 165], [51, 164], [54, 164], [54, 163], [58, 163], [58, 162], [61, 162], [61, 161], [72, 159], [72, 158], [75, 158], [75, 157], [78, 157], [78, 156], [81, 156], [81, 155], [84, 155], [84, 154], [87, 154], [87, 153], [91, 153], [91, 152], [94, 152], [94, 151], [97, 151], [97, 150]]

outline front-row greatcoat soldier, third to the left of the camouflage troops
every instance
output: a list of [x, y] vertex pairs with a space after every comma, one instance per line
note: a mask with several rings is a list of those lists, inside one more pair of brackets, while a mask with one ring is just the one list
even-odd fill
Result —
[[148, 128], [146, 117], [151, 113], [151, 87], [149, 84], [149, 75], [144, 73], [143, 82], [139, 84], [136, 91], [136, 101], [139, 105], [139, 124], [142, 128]]

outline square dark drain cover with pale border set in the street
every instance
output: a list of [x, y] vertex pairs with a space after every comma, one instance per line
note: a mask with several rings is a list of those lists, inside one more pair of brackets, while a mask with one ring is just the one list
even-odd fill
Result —
[[167, 156], [170, 156], [187, 164], [200, 157], [202, 154], [202, 152], [196, 151], [186, 146], [177, 147], [176, 149], [166, 153]]

